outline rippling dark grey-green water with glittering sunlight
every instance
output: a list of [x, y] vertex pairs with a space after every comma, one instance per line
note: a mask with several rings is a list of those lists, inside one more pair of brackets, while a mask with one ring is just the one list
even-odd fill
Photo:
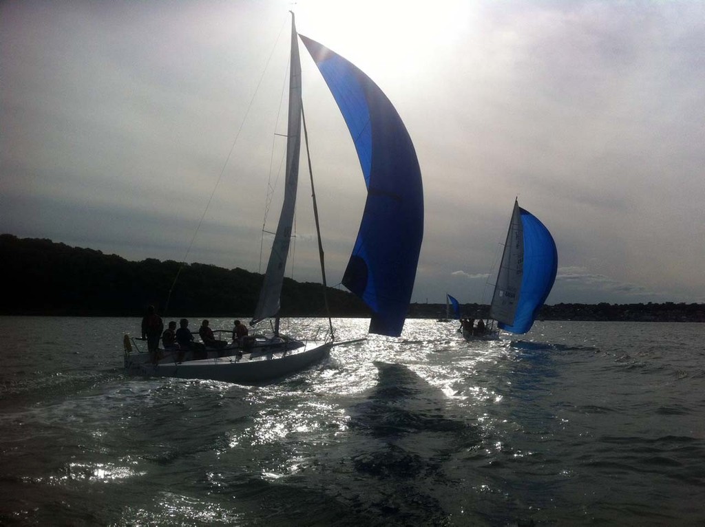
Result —
[[705, 325], [410, 320], [263, 387], [127, 378], [139, 325], [0, 318], [0, 523], [705, 523]]

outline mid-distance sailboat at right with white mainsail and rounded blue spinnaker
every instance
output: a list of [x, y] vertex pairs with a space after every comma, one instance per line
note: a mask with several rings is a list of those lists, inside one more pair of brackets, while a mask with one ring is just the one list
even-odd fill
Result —
[[[527, 333], [556, 280], [558, 251], [546, 226], [517, 199], [484, 328], [463, 327], [466, 340], [496, 340], [499, 330]], [[496, 321], [496, 326], [494, 322]]]

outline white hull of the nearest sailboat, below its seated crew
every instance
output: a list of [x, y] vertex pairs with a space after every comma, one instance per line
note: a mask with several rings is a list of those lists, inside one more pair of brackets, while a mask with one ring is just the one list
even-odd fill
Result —
[[221, 380], [236, 384], [257, 384], [302, 371], [325, 359], [333, 342], [308, 342], [287, 352], [253, 352], [242, 356], [213, 357], [191, 361], [162, 361], [151, 364], [125, 357], [125, 371], [133, 376], [175, 377], [182, 379]]

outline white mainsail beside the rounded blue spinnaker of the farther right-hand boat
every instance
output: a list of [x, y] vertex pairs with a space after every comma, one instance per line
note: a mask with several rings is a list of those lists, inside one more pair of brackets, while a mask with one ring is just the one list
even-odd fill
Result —
[[524, 231], [519, 203], [515, 200], [502, 261], [499, 264], [489, 316], [508, 325], [514, 323], [524, 268]]

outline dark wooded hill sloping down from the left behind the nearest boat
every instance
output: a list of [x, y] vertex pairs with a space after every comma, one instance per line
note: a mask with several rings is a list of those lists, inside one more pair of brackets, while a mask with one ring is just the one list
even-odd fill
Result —
[[[6, 280], [3, 315], [141, 316], [147, 304], [163, 314], [169, 299], [168, 316], [247, 317], [264, 279], [240, 268], [128, 261], [8, 234], [0, 235], [0, 273]], [[369, 316], [350, 292], [329, 287], [328, 299], [332, 316]], [[323, 286], [285, 278], [281, 306], [282, 316], [325, 316]]]

